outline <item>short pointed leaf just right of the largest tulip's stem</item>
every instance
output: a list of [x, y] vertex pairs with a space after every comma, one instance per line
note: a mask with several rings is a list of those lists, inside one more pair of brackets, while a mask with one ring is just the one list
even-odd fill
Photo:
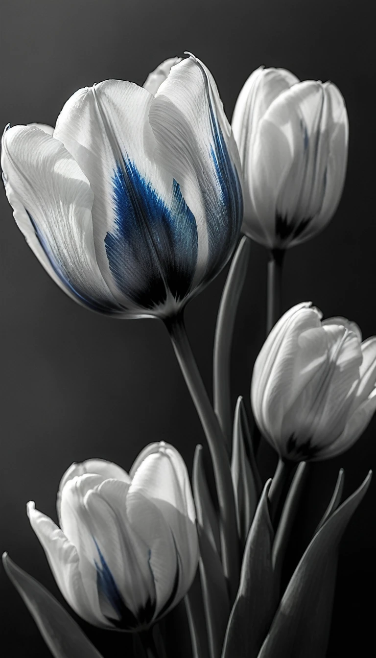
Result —
[[234, 415], [231, 475], [238, 535], [243, 549], [261, 493], [261, 479], [255, 463], [250, 429], [241, 395], [238, 397]]

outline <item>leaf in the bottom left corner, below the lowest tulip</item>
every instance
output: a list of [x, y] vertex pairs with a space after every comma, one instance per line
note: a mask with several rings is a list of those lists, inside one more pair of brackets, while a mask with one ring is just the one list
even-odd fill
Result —
[[7, 555], [3, 565], [55, 658], [103, 658], [63, 606]]

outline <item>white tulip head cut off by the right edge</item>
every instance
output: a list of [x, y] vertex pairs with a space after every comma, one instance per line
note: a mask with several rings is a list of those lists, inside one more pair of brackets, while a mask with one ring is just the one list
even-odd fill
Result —
[[350, 448], [376, 409], [376, 337], [309, 302], [287, 311], [255, 361], [251, 399], [282, 459], [319, 461]]

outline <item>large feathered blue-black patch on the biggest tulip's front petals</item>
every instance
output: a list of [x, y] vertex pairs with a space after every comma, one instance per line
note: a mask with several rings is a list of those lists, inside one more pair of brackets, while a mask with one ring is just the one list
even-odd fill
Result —
[[144, 309], [190, 291], [198, 255], [196, 220], [174, 180], [170, 205], [136, 165], [124, 158], [113, 174], [115, 223], [105, 237], [109, 268], [119, 290]]

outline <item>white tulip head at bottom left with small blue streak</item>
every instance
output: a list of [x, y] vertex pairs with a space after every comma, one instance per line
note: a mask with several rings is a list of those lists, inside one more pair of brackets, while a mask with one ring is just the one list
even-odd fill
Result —
[[61, 593], [86, 621], [141, 630], [186, 594], [198, 565], [186, 465], [151, 443], [130, 473], [101, 459], [73, 464], [57, 496], [59, 528], [28, 503], [32, 528]]

